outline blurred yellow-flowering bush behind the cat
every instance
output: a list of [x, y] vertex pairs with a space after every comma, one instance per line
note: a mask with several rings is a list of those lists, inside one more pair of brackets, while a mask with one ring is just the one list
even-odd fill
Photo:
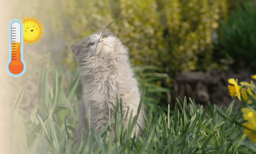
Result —
[[68, 47], [77, 35], [86, 37], [117, 19], [109, 29], [130, 48], [134, 65], [175, 74], [218, 67], [211, 60], [212, 35], [227, 12], [226, 0], [56, 0], [52, 21]]

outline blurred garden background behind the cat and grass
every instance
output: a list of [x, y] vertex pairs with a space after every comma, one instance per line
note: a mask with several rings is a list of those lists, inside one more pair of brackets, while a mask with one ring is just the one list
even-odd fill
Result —
[[[144, 103], [148, 108], [159, 105], [167, 112], [169, 103], [174, 109], [175, 98], [184, 99], [185, 95], [205, 105], [207, 110], [208, 101], [229, 106], [233, 99], [227, 90], [227, 80], [237, 77], [250, 81], [250, 75], [256, 73], [255, 5], [254, 0], [1, 1], [0, 122], [11, 112], [25, 84], [19, 107], [30, 119], [30, 113], [40, 103], [40, 77], [47, 69], [49, 87], [53, 88], [52, 63], [63, 75], [63, 91], [68, 93], [77, 75], [69, 44], [78, 44], [114, 19], [116, 22], [109, 30], [117, 33], [131, 51], [131, 63], [141, 91], [146, 91]], [[28, 16], [41, 20], [45, 34], [33, 46], [24, 44], [27, 70], [22, 77], [15, 78], [6, 71], [8, 25], [12, 19], [23, 20]], [[188, 72], [204, 78], [187, 79]], [[182, 86], [191, 90], [182, 91]], [[202, 94], [203, 98], [197, 95], [201, 91], [207, 92]], [[221, 94], [216, 94], [218, 91]], [[80, 84], [74, 97], [81, 97]], [[71, 104], [74, 106], [74, 99]], [[158, 108], [151, 112], [156, 117], [160, 115]]]

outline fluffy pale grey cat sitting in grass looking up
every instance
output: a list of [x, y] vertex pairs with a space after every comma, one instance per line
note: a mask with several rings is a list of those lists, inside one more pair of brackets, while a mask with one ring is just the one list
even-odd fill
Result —
[[[87, 113], [89, 106], [91, 128], [95, 136], [98, 136], [102, 128], [108, 124], [109, 109], [110, 119], [114, 117], [113, 110], [116, 106], [116, 95], [119, 99], [122, 99], [123, 110], [127, 110], [129, 106], [127, 119], [130, 118], [132, 109], [132, 117], [136, 116], [138, 110], [140, 92], [138, 82], [133, 77], [134, 73], [129, 62], [128, 48], [122, 45], [113, 33], [107, 30], [103, 33], [104, 29], [105, 27], [102, 26], [99, 33], [90, 35], [79, 44], [70, 45], [78, 60], [83, 84], [83, 101], [79, 106], [77, 137], [81, 136], [82, 130], [88, 136]], [[102, 38], [99, 40], [102, 33]], [[96, 67], [98, 73], [94, 57], [97, 42]], [[137, 123], [144, 129], [143, 108], [141, 108]], [[128, 120], [126, 120], [126, 125], [128, 125]], [[137, 127], [136, 135], [138, 136], [140, 132], [139, 127]]]

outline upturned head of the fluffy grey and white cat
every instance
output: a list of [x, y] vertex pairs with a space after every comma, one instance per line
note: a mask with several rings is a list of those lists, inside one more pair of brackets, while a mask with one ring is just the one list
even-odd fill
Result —
[[[100, 32], [90, 35], [79, 44], [71, 44], [70, 48], [75, 54], [75, 57], [80, 60], [84, 60], [88, 59], [88, 57], [94, 56], [97, 42], [96, 56], [99, 58], [127, 54], [127, 48], [122, 45], [116, 35], [107, 31], [107, 29], [103, 33], [104, 30], [105, 26], [102, 26]], [[102, 37], [99, 40], [101, 35]]]

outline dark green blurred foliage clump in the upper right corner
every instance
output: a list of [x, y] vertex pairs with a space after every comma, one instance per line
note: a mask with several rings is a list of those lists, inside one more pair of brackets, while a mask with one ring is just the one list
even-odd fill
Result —
[[256, 66], [256, 5], [245, 1], [222, 28], [221, 43], [240, 66]]

